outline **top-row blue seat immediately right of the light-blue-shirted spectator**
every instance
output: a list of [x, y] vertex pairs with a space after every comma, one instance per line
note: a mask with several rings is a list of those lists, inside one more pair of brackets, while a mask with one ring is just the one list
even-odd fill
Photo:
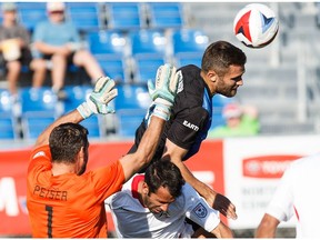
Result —
[[67, 2], [67, 14], [80, 31], [88, 32], [103, 27], [98, 2]]

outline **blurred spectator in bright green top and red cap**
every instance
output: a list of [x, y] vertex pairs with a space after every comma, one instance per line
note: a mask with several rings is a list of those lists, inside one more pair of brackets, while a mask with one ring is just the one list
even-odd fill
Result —
[[209, 138], [246, 137], [259, 133], [258, 111], [253, 107], [240, 107], [232, 102], [223, 108], [222, 116], [226, 124], [209, 131]]

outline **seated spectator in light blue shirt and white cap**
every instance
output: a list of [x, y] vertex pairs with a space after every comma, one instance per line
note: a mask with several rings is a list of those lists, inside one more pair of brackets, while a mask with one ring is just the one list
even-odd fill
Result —
[[[92, 81], [103, 76], [93, 56], [82, 48], [77, 28], [66, 20], [64, 9], [63, 2], [48, 2], [49, 20], [36, 26], [32, 36], [33, 57], [51, 61], [52, 89], [60, 98], [66, 97], [62, 89], [68, 63], [83, 67]], [[36, 87], [40, 87], [43, 81], [44, 76]]]

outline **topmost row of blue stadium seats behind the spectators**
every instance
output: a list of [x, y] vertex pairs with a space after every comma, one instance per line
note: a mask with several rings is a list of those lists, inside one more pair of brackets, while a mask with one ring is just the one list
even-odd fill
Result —
[[[67, 2], [66, 9], [67, 18], [84, 32], [180, 28], [184, 24], [182, 11], [179, 2]], [[46, 2], [19, 2], [18, 14], [19, 22], [32, 31], [39, 21], [47, 19]]]

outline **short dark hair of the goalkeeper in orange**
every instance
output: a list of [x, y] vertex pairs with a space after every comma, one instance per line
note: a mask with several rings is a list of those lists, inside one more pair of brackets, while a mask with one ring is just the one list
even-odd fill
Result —
[[74, 163], [77, 153], [89, 147], [88, 130], [78, 123], [62, 123], [49, 137], [53, 162]]

